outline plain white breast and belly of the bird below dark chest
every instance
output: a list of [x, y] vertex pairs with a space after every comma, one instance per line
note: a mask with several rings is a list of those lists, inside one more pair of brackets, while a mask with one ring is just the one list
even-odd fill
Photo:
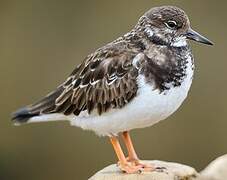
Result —
[[160, 94], [150, 84], [138, 77], [137, 96], [122, 109], [112, 110], [101, 116], [88, 115], [68, 117], [71, 125], [95, 131], [99, 135], [116, 135], [119, 132], [152, 126], [175, 112], [187, 97], [193, 77], [192, 59], [188, 57], [186, 78], [181, 86]]

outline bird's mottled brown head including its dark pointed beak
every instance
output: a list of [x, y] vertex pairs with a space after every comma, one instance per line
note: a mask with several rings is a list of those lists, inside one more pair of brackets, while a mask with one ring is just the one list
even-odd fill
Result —
[[140, 30], [159, 45], [183, 47], [187, 39], [212, 45], [213, 43], [190, 27], [189, 18], [180, 8], [162, 6], [150, 9], [139, 20]]

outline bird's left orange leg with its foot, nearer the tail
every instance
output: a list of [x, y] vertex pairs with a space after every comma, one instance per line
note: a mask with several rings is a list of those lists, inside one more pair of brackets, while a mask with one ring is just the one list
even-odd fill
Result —
[[114, 151], [118, 157], [119, 166], [120, 166], [121, 170], [128, 174], [141, 172], [141, 166], [133, 165], [133, 164], [127, 162], [118, 139], [116, 137], [111, 137], [110, 141], [111, 141]]

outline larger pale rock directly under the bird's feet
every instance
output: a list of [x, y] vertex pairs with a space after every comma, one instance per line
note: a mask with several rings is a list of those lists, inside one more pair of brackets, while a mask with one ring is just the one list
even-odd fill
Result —
[[114, 164], [97, 172], [89, 180], [195, 180], [199, 177], [194, 168], [186, 165], [164, 161], [145, 162], [158, 167], [158, 169], [141, 174], [125, 174]]

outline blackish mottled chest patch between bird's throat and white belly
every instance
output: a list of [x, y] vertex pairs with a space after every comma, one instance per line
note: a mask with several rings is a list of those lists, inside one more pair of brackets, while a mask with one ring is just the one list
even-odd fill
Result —
[[[144, 51], [145, 60], [141, 73], [160, 92], [181, 86], [187, 77], [187, 68], [193, 67], [193, 57], [188, 46], [176, 48], [152, 45]], [[189, 67], [190, 66], [190, 67]]]

